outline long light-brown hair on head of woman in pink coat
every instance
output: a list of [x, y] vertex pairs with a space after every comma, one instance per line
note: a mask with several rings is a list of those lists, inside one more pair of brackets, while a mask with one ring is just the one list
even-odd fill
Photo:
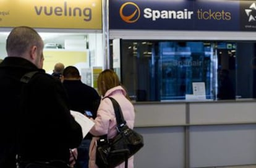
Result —
[[120, 81], [116, 72], [111, 69], [106, 69], [98, 76], [97, 84], [99, 93], [104, 96], [106, 91], [119, 86]]

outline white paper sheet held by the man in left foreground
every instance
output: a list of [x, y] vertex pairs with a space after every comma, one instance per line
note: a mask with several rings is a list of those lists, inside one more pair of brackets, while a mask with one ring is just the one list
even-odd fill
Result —
[[78, 122], [82, 127], [83, 137], [85, 137], [85, 135], [87, 135], [87, 133], [93, 127], [94, 122], [88, 119], [88, 117], [81, 114], [80, 112], [70, 111], [70, 114], [73, 115], [73, 117], [75, 118], [75, 121]]

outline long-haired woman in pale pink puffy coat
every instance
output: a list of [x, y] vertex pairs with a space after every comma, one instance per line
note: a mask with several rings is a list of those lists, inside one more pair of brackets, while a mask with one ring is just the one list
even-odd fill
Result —
[[[109, 98], [106, 96], [116, 99], [117, 103], [122, 109], [122, 114], [124, 115], [124, 120], [126, 120], [129, 128], [134, 127], [134, 106], [129, 101], [126, 90], [122, 88], [119, 82], [119, 78], [113, 70], [107, 69], [100, 73], [98, 77], [98, 91], [103, 97], [101, 99], [100, 106], [98, 107], [97, 116], [94, 120], [95, 125], [90, 130], [90, 133], [94, 136], [108, 135], [108, 138], [114, 138], [117, 134], [116, 130], [116, 116], [114, 114], [114, 107]], [[90, 151], [89, 151], [89, 167], [97, 168], [95, 164], [96, 159], [96, 143], [97, 137], [94, 137], [91, 141]], [[119, 168], [124, 167], [124, 162], [117, 166]], [[134, 167], [133, 156], [129, 158], [128, 167]]]

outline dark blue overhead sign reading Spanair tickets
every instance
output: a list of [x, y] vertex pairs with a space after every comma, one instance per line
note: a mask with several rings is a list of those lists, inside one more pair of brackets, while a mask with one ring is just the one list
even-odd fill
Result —
[[256, 6], [252, 1], [109, 0], [109, 28], [255, 31]]

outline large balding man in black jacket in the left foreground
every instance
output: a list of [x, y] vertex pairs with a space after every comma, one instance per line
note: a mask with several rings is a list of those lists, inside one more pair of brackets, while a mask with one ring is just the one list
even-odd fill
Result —
[[[70, 115], [62, 83], [45, 73], [43, 40], [30, 27], [15, 27], [0, 64], [0, 167], [59, 160], [69, 164], [70, 148], [82, 141], [82, 128]], [[28, 83], [25, 73], [37, 72]], [[22, 165], [20, 165], [22, 167]]]

